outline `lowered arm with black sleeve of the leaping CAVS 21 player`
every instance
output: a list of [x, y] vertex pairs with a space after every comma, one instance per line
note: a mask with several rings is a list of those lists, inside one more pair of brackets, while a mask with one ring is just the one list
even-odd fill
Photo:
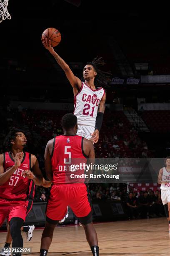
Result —
[[103, 115], [105, 112], [105, 101], [106, 101], [106, 93], [102, 97], [100, 104], [99, 104], [99, 109], [96, 117], [96, 123], [95, 123], [95, 131], [92, 133], [92, 139], [94, 143], [97, 143], [99, 140], [99, 133], [100, 129], [102, 127], [102, 120], [103, 120]]

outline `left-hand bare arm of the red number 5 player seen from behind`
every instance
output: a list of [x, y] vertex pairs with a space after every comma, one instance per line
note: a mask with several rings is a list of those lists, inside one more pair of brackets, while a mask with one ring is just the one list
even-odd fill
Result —
[[53, 173], [51, 167], [51, 156], [52, 156], [52, 148], [53, 148], [54, 139], [48, 141], [47, 146], [45, 148], [44, 161], [45, 161], [45, 172], [47, 178], [52, 181]]

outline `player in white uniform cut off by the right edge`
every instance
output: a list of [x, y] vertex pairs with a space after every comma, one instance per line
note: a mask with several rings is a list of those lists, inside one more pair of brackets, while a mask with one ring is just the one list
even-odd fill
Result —
[[158, 183], [161, 184], [161, 199], [165, 209], [165, 214], [169, 222], [170, 232], [170, 156], [165, 158], [165, 165], [159, 171]]

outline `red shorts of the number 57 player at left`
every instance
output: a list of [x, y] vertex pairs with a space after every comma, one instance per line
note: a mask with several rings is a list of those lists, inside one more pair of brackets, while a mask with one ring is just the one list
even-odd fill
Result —
[[25, 221], [26, 215], [32, 208], [32, 201], [12, 201], [0, 198], [0, 226], [4, 223], [5, 218], [7, 222], [13, 217], [21, 218]]

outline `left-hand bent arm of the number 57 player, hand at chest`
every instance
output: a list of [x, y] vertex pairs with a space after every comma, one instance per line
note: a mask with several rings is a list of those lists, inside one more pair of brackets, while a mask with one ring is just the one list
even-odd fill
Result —
[[9, 170], [4, 172], [4, 156], [3, 154], [0, 155], [0, 185], [3, 185], [5, 182], [7, 182], [8, 179], [10, 179], [11, 175], [18, 169], [18, 167], [20, 167], [22, 159], [23, 153], [17, 153], [15, 156], [14, 165]]

